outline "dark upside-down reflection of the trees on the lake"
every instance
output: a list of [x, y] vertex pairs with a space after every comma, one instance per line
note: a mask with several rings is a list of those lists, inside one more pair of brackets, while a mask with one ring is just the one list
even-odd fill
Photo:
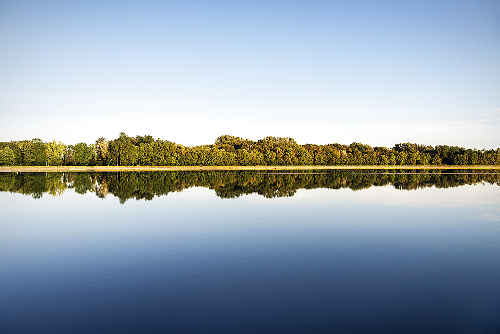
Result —
[[218, 197], [234, 198], [257, 193], [266, 198], [293, 196], [298, 189], [350, 188], [392, 185], [396, 189], [449, 188], [487, 182], [498, 184], [496, 170], [298, 170], [298, 171], [173, 171], [173, 172], [38, 172], [0, 173], [0, 191], [60, 196], [66, 189], [93, 192], [104, 198], [151, 200], [191, 187], [207, 187]]

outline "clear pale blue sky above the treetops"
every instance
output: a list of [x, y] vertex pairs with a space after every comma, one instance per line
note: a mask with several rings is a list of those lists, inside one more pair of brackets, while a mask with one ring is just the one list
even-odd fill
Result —
[[0, 141], [500, 147], [499, 1], [0, 1]]

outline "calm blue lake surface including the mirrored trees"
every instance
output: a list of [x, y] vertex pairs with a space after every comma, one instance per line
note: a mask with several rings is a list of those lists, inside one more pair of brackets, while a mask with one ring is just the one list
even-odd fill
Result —
[[500, 332], [498, 171], [0, 173], [0, 332]]

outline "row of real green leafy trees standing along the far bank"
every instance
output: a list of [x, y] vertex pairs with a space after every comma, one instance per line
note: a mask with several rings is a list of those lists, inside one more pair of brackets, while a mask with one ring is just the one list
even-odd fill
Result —
[[268, 136], [252, 141], [220, 136], [214, 144], [184, 146], [152, 136], [102, 137], [92, 144], [66, 145], [58, 140], [0, 142], [1, 166], [416, 166], [500, 165], [500, 148], [465, 149], [412, 143], [392, 148], [362, 143], [304, 144], [293, 138]]

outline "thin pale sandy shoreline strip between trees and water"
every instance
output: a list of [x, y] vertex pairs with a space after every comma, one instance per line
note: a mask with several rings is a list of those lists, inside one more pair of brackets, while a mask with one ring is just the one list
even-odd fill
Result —
[[0, 172], [119, 172], [119, 171], [224, 171], [310, 169], [500, 169], [500, 166], [24, 166], [0, 167]]

